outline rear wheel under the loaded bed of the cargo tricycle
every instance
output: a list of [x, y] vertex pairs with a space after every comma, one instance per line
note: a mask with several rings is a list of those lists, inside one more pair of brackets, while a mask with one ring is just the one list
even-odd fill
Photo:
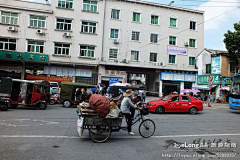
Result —
[[95, 122], [89, 130], [90, 138], [97, 143], [102, 143], [108, 140], [111, 135], [111, 127], [102, 121]]

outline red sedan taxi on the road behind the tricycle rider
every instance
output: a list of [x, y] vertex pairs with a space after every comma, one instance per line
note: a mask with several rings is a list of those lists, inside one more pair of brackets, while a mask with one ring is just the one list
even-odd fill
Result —
[[150, 112], [189, 112], [196, 114], [203, 110], [203, 102], [187, 95], [168, 95], [161, 100], [149, 101], [147, 107]]

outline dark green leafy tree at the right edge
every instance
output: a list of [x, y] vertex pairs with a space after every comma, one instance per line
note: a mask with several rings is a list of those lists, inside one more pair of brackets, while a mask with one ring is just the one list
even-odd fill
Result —
[[240, 65], [240, 22], [234, 24], [235, 31], [228, 30], [224, 34], [226, 49], [230, 59], [234, 60], [237, 65]]

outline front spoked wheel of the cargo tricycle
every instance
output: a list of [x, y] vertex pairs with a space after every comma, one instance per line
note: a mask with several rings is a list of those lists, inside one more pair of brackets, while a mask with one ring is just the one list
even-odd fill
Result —
[[143, 138], [151, 137], [155, 132], [155, 123], [151, 119], [143, 120], [139, 125], [139, 134]]

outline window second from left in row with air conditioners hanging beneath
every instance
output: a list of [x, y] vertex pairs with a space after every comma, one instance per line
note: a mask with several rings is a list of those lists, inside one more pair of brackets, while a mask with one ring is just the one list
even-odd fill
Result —
[[46, 28], [46, 17], [30, 15], [29, 27]]

